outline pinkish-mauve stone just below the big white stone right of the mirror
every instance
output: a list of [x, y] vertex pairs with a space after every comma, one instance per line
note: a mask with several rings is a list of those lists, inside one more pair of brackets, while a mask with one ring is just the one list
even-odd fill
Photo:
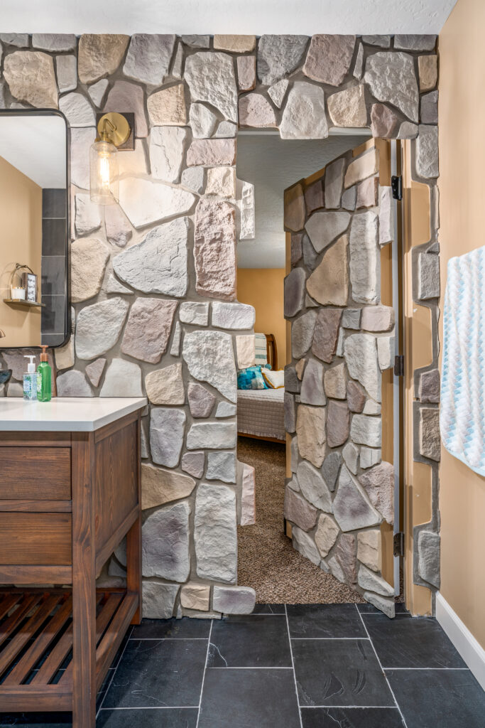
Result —
[[167, 351], [177, 301], [137, 298], [129, 312], [121, 351], [157, 364]]

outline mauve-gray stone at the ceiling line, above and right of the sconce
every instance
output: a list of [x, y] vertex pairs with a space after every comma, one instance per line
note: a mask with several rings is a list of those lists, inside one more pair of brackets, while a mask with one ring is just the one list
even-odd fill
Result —
[[123, 73], [149, 86], [160, 86], [169, 72], [175, 36], [135, 33], [129, 41]]

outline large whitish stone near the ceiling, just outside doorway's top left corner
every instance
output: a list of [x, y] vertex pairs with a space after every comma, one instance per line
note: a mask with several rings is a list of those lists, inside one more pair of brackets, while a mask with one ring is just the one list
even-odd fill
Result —
[[185, 81], [193, 101], [206, 101], [237, 122], [238, 91], [234, 63], [225, 53], [199, 52], [185, 60]]

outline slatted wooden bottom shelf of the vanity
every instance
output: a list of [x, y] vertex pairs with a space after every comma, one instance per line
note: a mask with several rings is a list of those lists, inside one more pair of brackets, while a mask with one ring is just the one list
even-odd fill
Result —
[[[138, 609], [137, 593], [96, 590], [96, 689]], [[0, 710], [71, 711], [70, 589], [0, 590]]]

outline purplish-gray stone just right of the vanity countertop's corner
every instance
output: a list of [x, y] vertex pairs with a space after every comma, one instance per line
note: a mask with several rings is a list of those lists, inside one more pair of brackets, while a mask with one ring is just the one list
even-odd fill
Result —
[[152, 407], [150, 412], [150, 448], [153, 462], [177, 467], [183, 446], [187, 416], [180, 409]]

